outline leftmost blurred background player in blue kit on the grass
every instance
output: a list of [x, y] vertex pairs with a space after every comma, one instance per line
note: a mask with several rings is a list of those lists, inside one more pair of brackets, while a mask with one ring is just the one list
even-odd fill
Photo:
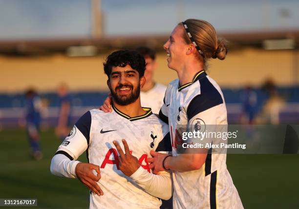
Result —
[[41, 160], [43, 153], [40, 149], [40, 124], [42, 102], [33, 88], [25, 92], [25, 122], [28, 139], [31, 147], [31, 156]]

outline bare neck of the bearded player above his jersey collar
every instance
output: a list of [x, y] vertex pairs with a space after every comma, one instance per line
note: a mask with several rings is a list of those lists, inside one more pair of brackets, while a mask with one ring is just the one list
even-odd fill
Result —
[[128, 104], [128, 105], [119, 105], [116, 104], [115, 102], [113, 105], [122, 113], [125, 113], [126, 115], [130, 116], [131, 118], [137, 117], [140, 115], [144, 115], [146, 111], [141, 107], [140, 103], [140, 97], [133, 103]]

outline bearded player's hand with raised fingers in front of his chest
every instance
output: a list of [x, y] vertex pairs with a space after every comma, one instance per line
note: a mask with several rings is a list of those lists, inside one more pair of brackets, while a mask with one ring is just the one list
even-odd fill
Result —
[[130, 149], [128, 147], [127, 141], [122, 139], [122, 142], [125, 147], [125, 153], [123, 152], [122, 148], [119, 146], [118, 142], [113, 141], [114, 146], [116, 147], [120, 156], [118, 156], [119, 161], [119, 169], [126, 175], [131, 176], [139, 167], [138, 159], [131, 155]]

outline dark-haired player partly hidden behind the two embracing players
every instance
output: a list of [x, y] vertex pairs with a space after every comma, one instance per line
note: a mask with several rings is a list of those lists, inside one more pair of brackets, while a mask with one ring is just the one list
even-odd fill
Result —
[[147, 81], [140, 92], [141, 106], [148, 106], [153, 113], [158, 114], [163, 104], [166, 86], [153, 80], [154, 71], [157, 68], [156, 52], [144, 46], [136, 48], [136, 51], [144, 57], [147, 63], [144, 73]]

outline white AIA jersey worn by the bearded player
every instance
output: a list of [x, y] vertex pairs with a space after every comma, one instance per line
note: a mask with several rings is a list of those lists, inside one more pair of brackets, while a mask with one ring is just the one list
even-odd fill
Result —
[[[112, 113], [93, 109], [86, 112], [59, 146], [56, 154], [77, 159], [85, 150], [89, 163], [99, 165], [98, 182], [104, 195], [90, 193], [90, 209], [158, 209], [161, 201], [138, 186], [118, 167], [118, 152], [113, 140], [126, 139], [131, 154], [141, 167], [151, 172], [147, 161], [149, 151], [171, 151], [169, 127], [150, 108], [146, 114], [131, 118], [113, 106]], [[125, 151], [124, 151], [125, 152]]]

